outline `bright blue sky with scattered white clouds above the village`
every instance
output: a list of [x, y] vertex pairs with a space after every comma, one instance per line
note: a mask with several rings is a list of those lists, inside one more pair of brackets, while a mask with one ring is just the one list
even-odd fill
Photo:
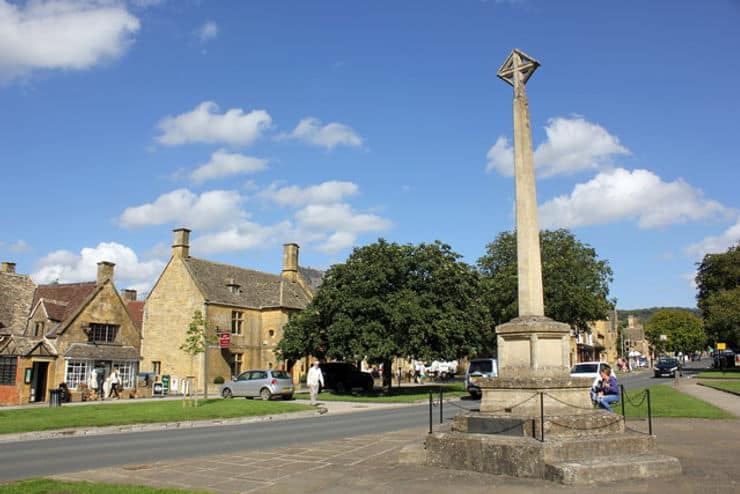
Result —
[[198, 257], [326, 268], [382, 236], [474, 263], [514, 227], [512, 48], [540, 224], [623, 309], [694, 306], [740, 240], [740, 3], [0, 0], [0, 258], [144, 293]]

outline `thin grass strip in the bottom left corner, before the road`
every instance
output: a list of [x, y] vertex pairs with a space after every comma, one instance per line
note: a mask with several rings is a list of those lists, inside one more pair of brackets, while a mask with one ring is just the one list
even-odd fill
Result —
[[2, 494], [192, 494], [205, 491], [180, 489], [155, 489], [140, 485], [102, 484], [93, 482], [62, 482], [49, 479], [33, 479], [0, 485]]

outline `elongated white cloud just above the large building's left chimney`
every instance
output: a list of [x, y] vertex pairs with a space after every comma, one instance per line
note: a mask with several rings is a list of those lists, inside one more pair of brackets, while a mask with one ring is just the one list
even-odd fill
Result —
[[187, 189], [162, 194], [156, 201], [126, 208], [118, 222], [125, 228], [164, 223], [193, 229], [210, 229], [240, 220], [242, 198], [236, 191], [212, 190], [201, 195]]

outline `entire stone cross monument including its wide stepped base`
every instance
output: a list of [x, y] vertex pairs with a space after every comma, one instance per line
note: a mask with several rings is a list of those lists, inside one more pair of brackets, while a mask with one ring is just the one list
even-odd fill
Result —
[[[539, 63], [513, 50], [498, 77], [514, 88], [514, 161], [519, 316], [496, 326], [498, 377], [478, 381], [480, 411], [457, 415], [404, 463], [555, 480], [565, 484], [681, 472], [657, 454], [655, 436], [628, 431], [594, 410], [590, 378], [570, 377], [570, 326], [545, 317], [532, 134], [524, 86]], [[430, 431], [432, 432], [432, 431]]]

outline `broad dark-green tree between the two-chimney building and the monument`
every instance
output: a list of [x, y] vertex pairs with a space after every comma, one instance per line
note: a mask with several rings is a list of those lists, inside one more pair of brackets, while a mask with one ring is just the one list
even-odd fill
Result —
[[325, 273], [306, 308], [285, 326], [282, 358], [383, 363], [395, 357], [454, 359], [479, 351], [490, 324], [478, 301], [479, 276], [441, 242], [383, 239], [356, 248]]

